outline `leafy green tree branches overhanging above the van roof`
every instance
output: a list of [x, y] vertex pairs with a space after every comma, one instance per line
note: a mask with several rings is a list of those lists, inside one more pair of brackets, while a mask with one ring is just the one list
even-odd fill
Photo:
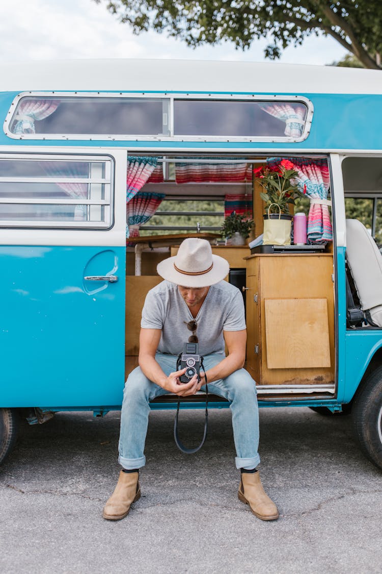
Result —
[[[94, 0], [100, 3], [101, 0]], [[309, 34], [332, 36], [365, 68], [381, 69], [381, 0], [105, 0], [138, 34], [153, 29], [190, 46], [231, 41], [242, 50], [255, 38], [270, 44], [265, 56], [302, 44]]]

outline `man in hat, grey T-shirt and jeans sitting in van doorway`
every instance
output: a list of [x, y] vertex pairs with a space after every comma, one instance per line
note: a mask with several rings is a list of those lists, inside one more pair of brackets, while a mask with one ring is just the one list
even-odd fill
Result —
[[[151, 289], [142, 311], [139, 367], [125, 384], [121, 412], [119, 463], [123, 467], [103, 517], [124, 518], [140, 498], [139, 469], [145, 464], [144, 444], [149, 401], [167, 393], [179, 397], [208, 390], [230, 401], [236, 467], [241, 471], [239, 499], [262, 520], [275, 520], [278, 510], [263, 490], [257, 466], [259, 418], [256, 387], [243, 369], [246, 324], [239, 290], [223, 281], [229, 273], [225, 259], [212, 255], [204, 239], [185, 239], [178, 254], [160, 262], [157, 272], [165, 281]], [[175, 371], [176, 360], [192, 331], [199, 341], [205, 372], [188, 383]], [[228, 355], [225, 356], [225, 344]]]

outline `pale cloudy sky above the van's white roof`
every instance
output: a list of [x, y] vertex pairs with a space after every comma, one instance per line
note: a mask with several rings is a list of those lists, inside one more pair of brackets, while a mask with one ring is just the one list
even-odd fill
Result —
[[[110, 14], [105, 2], [93, 0], [0, 0], [0, 61], [98, 58], [164, 58], [266, 61], [266, 40], [254, 40], [238, 51], [231, 43], [191, 49], [166, 34], [135, 36], [127, 24]], [[346, 51], [330, 37], [310, 36], [290, 46], [279, 61], [290, 64], [331, 64]]]

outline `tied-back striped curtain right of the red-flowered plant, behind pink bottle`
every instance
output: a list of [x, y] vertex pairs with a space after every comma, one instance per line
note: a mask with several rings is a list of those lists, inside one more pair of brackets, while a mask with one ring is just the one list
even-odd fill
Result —
[[[298, 172], [296, 184], [301, 192], [310, 199], [308, 215], [308, 243], [310, 245], [325, 244], [333, 241], [332, 222], [330, 221], [328, 197], [330, 177], [328, 162], [324, 159], [308, 160], [304, 158], [288, 158], [293, 168]], [[277, 166], [281, 158], [269, 158], [267, 164]]]

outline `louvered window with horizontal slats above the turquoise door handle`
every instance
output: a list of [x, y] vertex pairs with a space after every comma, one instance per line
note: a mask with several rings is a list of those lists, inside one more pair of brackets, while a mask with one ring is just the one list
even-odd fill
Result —
[[0, 156], [0, 226], [109, 228], [113, 160]]

